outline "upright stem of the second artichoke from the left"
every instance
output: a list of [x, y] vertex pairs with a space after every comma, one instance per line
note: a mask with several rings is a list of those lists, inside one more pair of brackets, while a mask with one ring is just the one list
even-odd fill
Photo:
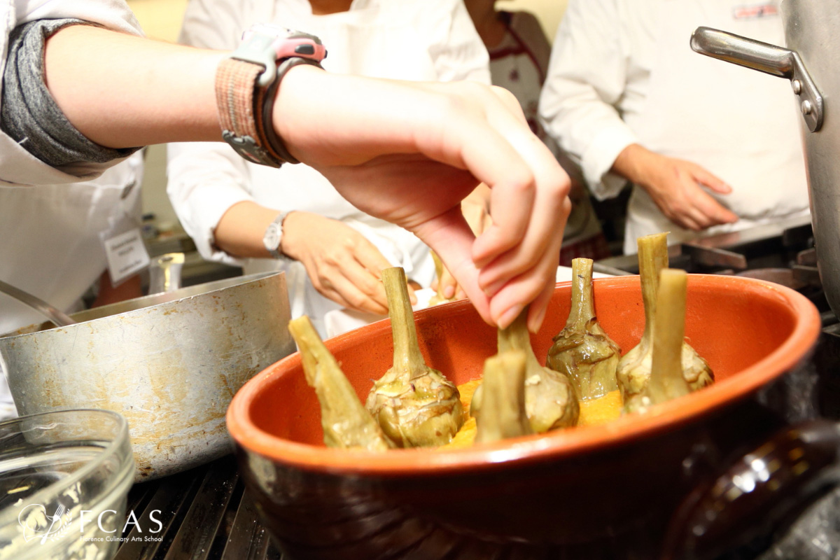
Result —
[[408, 299], [405, 270], [394, 267], [382, 270], [389, 301], [391, 332], [394, 337], [394, 367], [409, 372], [410, 379], [426, 374], [426, 362], [417, 343], [417, 328], [414, 327], [414, 312]]

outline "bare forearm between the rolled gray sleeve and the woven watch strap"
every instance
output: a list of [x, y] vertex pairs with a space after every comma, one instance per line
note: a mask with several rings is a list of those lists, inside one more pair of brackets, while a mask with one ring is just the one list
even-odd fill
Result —
[[70, 122], [102, 146], [219, 140], [223, 55], [76, 25], [48, 39], [46, 81]]

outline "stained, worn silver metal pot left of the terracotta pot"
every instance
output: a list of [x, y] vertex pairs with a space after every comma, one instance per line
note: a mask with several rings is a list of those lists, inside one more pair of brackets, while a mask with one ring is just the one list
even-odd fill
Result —
[[135, 479], [192, 468], [232, 450], [224, 415], [234, 393], [295, 349], [282, 273], [155, 294], [0, 338], [21, 415], [68, 408], [129, 421]]

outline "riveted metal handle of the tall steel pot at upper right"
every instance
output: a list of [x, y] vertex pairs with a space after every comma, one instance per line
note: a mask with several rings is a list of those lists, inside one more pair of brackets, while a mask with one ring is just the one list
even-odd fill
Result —
[[795, 50], [708, 27], [698, 27], [691, 34], [691, 49], [701, 55], [787, 78], [800, 98], [800, 111], [808, 129], [816, 132], [822, 127], [825, 112], [822, 95]]

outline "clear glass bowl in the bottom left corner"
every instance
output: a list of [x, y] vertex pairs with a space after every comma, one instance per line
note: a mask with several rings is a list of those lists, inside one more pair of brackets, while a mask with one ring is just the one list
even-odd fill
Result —
[[0, 423], [0, 560], [106, 560], [134, 481], [129, 427], [111, 411]]

